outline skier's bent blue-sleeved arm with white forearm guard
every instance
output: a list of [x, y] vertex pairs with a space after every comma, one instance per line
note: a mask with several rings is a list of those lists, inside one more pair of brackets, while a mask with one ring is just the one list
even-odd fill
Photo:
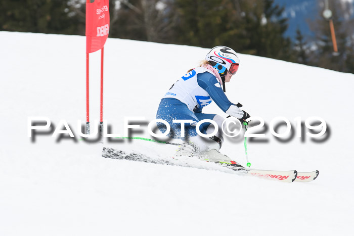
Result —
[[243, 111], [238, 108], [237, 105], [229, 101], [223, 89], [221, 88], [219, 81], [214, 75], [209, 72], [197, 74], [197, 82], [200, 87], [202, 87], [209, 93], [211, 99], [225, 113], [232, 115], [236, 118], [243, 117]]

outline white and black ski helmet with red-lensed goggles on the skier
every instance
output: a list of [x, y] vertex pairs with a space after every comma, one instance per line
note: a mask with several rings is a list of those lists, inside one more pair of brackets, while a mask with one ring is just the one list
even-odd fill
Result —
[[215, 46], [206, 55], [205, 60], [218, 70], [220, 77], [225, 76], [227, 71], [232, 75], [236, 74], [240, 63], [236, 52], [227, 46]]

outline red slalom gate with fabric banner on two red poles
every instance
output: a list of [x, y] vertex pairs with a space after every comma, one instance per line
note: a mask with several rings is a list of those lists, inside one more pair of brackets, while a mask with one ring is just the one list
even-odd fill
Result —
[[103, 46], [109, 33], [109, 0], [86, 0], [86, 134], [90, 134], [89, 67], [90, 53], [101, 49], [101, 106], [103, 125]]

